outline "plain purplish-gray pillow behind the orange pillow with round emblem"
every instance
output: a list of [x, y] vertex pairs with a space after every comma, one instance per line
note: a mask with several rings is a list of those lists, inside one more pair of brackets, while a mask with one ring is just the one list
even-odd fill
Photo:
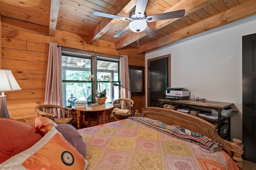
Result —
[[62, 134], [62, 136], [70, 143], [76, 150], [82, 155], [86, 156], [86, 145], [83, 137], [76, 130], [76, 128], [70, 124], [60, 124], [55, 128]]

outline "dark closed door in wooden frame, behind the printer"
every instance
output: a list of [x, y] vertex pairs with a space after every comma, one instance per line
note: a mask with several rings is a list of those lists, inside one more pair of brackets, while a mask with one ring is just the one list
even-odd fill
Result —
[[161, 107], [158, 99], [165, 98], [168, 87], [168, 57], [149, 63], [149, 106]]

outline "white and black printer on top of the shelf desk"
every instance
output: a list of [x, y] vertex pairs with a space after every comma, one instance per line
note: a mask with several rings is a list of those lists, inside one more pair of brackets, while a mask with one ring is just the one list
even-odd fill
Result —
[[165, 96], [170, 100], [189, 99], [189, 90], [185, 88], [166, 88]]

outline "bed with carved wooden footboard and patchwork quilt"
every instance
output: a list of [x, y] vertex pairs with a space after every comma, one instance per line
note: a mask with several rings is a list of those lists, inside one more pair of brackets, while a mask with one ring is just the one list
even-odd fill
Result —
[[[190, 136], [184, 140], [183, 135], [170, 134], [166, 130], [172, 129], [169, 124], [197, 131], [216, 141], [222, 150], [210, 148], [213, 142], [207, 138], [199, 137], [200, 141]], [[86, 143], [88, 170], [235, 170], [243, 165], [243, 145], [239, 140], [226, 141], [218, 136], [211, 123], [170, 109], [147, 107], [130, 119], [78, 129], [78, 132]], [[198, 140], [199, 144], [195, 142]]]

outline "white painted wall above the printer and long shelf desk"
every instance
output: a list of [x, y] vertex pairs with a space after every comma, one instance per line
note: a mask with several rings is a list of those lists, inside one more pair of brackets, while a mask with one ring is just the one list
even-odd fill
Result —
[[231, 139], [242, 140], [242, 36], [253, 33], [256, 15], [147, 51], [145, 66], [148, 59], [171, 54], [171, 86], [234, 103], [238, 113], [231, 117]]

